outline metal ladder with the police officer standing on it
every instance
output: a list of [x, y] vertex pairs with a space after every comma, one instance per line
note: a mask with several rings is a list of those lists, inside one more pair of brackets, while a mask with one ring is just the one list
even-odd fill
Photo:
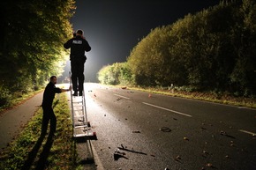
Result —
[[[70, 85], [72, 85], [71, 72]], [[87, 119], [85, 91], [82, 92], [82, 96], [73, 96], [71, 91], [71, 106], [73, 137], [75, 139], [96, 139], [96, 133], [91, 129], [91, 124]]]

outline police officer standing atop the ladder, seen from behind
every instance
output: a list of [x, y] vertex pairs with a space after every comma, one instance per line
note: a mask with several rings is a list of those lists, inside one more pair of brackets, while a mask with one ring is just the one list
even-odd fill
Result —
[[79, 96], [81, 96], [85, 79], [84, 63], [86, 63], [87, 60], [85, 52], [90, 51], [91, 47], [83, 37], [83, 31], [78, 30], [75, 37], [64, 43], [64, 48], [71, 48], [70, 59], [72, 64], [72, 86], [74, 91], [73, 95], [78, 96], [79, 91]]

